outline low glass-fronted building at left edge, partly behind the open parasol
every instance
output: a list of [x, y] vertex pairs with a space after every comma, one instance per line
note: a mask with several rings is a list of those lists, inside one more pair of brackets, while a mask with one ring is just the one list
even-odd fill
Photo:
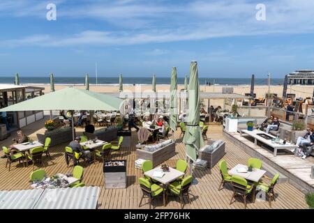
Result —
[[[0, 106], [8, 107], [24, 100], [43, 95], [45, 88], [38, 86], [24, 86], [0, 84]], [[43, 118], [43, 111], [7, 112], [10, 130], [16, 130]]]

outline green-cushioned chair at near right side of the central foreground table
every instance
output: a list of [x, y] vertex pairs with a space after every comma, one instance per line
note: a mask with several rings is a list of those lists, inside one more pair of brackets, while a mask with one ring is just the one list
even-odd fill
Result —
[[188, 196], [188, 190], [190, 188], [192, 180], [192, 176], [187, 176], [182, 181], [174, 181], [174, 183], [170, 183], [168, 187], [168, 191], [170, 192], [170, 194], [174, 194], [179, 197], [181, 208], [183, 208], [184, 196], [188, 197], [188, 201], [191, 203], [190, 197]]

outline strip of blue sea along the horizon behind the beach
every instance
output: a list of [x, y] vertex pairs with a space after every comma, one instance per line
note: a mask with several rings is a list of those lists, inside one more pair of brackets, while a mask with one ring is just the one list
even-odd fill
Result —
[[[250, 85], [251, 78], [207, 78], [200, 77], [200, 84], [208, 85]], [[0, 84], [14, 84], [15, 77], [0, 77]], [[123, 83], [128, 85], [151, 84], [152, 77], [123, 77]], [[272, 78], [271, 85], [282, 85], [284, 79]], [[85, 83], [85, 77], [54, 77], [54, 84], [57, 85], [80, 85]], [[178, 77], [178, 84], [184, 84], [184, 77]], [[49, 77], [20, 77], [20, 84], [50, 84]], [[89, 77], [89, 84], [118, 85], [119, 77]], [[170, 77], [156, 77], [156, 84], [170, 84]], [[255, 78], [255, 85], [267, 85], [267, 78]]]

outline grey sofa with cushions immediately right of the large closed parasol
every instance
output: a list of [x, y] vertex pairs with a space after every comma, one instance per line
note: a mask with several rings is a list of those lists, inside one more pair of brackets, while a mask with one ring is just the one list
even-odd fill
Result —
[[[214, 140], [207, 140], [207, 145], [214, 144]], [[212, 151], [200, 151], [199, 158], [201, 160], [207, 160], [207, 167], [213, 168], [216, 163], [225, 155], [225, 142], [223, 141], [222, 144], [218, 144], [216, 148]]]

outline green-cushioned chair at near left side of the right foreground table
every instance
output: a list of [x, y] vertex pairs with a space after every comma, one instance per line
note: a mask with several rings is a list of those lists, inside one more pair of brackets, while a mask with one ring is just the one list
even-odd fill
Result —
[[233, 203], [233, 199], [236, 195], [240, 195], [244, 199], [244, 208], [246, 208], [246, 197], [248, 197], [249, 194], [252, 194], [252, 202], [255, 199], [255, 190], [254, 185], [249, 185], [248, 181], [246, 181], [245, 178], [241, 176], [232, 176], [231, 177], [231, 185], [232, 185], [232, 198], [230, 201], [230, 205]]

